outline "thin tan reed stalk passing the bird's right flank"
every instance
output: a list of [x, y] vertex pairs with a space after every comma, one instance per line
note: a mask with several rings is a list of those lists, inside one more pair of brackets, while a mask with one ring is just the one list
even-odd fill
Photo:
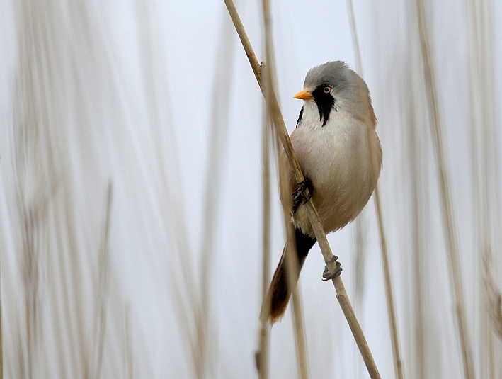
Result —
[[[361, 62], [361, 55], [359, 49], [359, 39], [358, 32], [355, 28], [355, 16], [354, 9], [352, 6], [352, 0], [347, 0], [348, 18], [350, 21], [350, 30], [352, 34], [352, 40], [355, 51], [355, 62], [358, 74], [363, 77], [363, 64]], [[370, 138], [368, 137], [368, 141]], [[368, 149], [372, 149], [372, 145], [368, 144]], [[370, 154], [370, 157], [373, 157]], [[375, 162], [372, 162], [372, 166], [375, 167]], [[374, 169], [375, 171], [375, 169]], [[391, 331], [391, 341], [392, 341], [392, 356], [394, 357], [394, 370], [396, 377], [398, 379], [403, 379], [403, 368], [401, 363], [401, 353], [399, 352], [399, 334], [397, 333], [397, 317], [394, 305], [394, 295], [392, 291], [392, 278], [390, 274], [390, 264], [389, 264], [389, 254], [387, 254], [387, 240], [385, 239], [384, 230], [384, 219], [382, 215], [382, 207], [380, 205], [380, 191], [378, 190], [378, 183], [375, 187], [375, 193], [373, 193], [373, 198], [375, 198], [375, 211], [377, 213], [378, 221], [378, 231], [380, 232], [380, 249], [382, 251], [382, 264], [384, 268], [384, 282], [385, 282], [385, 294], [387, 299], [387, 312], [389, 313], [389, 327]], [[357, 224], [356, 224], [357, 225]]]

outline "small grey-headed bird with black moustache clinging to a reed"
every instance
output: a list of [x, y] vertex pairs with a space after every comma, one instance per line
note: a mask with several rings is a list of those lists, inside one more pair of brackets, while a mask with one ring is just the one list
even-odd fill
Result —
[[[303, 90], [293, 97], [303, 100], [290, 138], [305, 180], [297, 183], [283, 152], [280, 166], [285, 174], [280, 199], [295, 227], [292, 238], [298, 259], [297, 283], [307, 254], [316, 243], [303, 203], [314, 203], [326, 233], [345, 227], [363, 210], [377, 186], [382, 147], [370, 91], [346, 62], [313, 67], [307, 72]], [[287, 242], [262, 305], [261, 317], [270, 324], [283, 317], [291, 294], [286, 246]], [[335, 276], [341, 272], [338, 268]]]

